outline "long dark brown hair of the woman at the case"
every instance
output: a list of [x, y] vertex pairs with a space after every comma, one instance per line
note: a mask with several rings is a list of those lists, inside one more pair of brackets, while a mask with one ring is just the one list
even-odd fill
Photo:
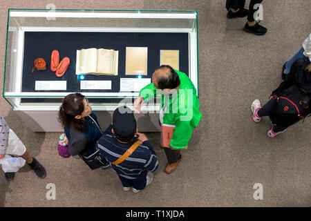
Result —
[[86, 131], [86, 121], [75, 118], [77, 115], [82, 115], [84, 111], [84, 98], [84, 95], [80, 93], [64, 97], [58, 113], [58, 120], [64, 128], [70, 128], [70, 124], [73, 124], [77, 131]]

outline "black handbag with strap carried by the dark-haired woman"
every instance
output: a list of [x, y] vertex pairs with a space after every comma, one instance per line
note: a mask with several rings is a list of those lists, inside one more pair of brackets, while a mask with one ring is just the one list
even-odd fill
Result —
[[[91, 116], [88, 116], [91, 117]], [[96, 121], [91, 117], [93, 122], [96, 124], [98, 130], [100, 130], [100, 133], [102, 133], [102, 130], [100, 129], [100, 126], [96, 123]], [[87, 152], [79, 153], [79, 157], [92, 169], [95, 170], [97, 168], [102, 167], [103, 169], [109, 168], [109, 162], [106, 161], [104, 157], [100, 155], [100, 151], [96, 148], [96, 151], [91, 154], [87, 154]]]

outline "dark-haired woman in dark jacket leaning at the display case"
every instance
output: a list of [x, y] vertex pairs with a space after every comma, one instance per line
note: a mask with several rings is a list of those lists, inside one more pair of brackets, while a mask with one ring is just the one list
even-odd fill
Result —
[[[97, 116], [92, 113], [88, 99], [80, 93], [64, 97], [59, 108], [59, 122], [64, 127], [65, 137], [61, 144], [68, 144], [70, 155], [92, 155], [97, 151], [97, 140], [102, 136]], [[104, 162], [109, 166], [108, 162]]]

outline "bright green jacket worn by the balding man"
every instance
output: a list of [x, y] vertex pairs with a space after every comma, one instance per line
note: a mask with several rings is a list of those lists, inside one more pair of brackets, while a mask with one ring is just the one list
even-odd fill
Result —
[[[161, 107], [162, 111], [166, 108], [163, 111], [163, 124], [176, 126], [170, 146], [180, 149], [188, 146], [192, 131], [198, 126], [202, 114], [199, 111], [200, 103], [194, 84], [185, 73], [175, 71], [180, 79], [180, 88], [173, 96], [162, 94]], [[140, 90], [140, 96], [144, 98], [144, 102], [149, 102], [156, 94], [157, 88], [153, 83]]]

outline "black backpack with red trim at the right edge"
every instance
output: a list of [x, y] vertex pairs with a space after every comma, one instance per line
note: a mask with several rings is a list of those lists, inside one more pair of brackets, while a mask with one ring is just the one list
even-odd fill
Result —
[[288, 127], [310, 113], [310, 97], [296, 84], [277, 94], [272, 94], [277, 103], [271, 111], [272, 123]]

